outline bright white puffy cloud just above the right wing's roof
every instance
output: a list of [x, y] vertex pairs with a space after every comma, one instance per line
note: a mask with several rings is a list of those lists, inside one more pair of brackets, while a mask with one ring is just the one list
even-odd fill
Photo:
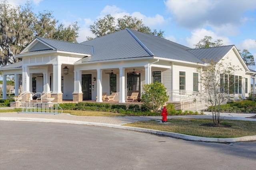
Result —
[[194, 45], [197, 44], [204, 36], [211, 36], [212, 42], [216, 41], [217, 39], [222, 39], [222, 43], [224, 45], [231, 45], [230, 39], [224, 36], [219, 36], [213, 31], [207, 29], [196, 29], [191, 32], [191, 37], [186, 37], [187, 46], [190, 48], [194, 48]]

